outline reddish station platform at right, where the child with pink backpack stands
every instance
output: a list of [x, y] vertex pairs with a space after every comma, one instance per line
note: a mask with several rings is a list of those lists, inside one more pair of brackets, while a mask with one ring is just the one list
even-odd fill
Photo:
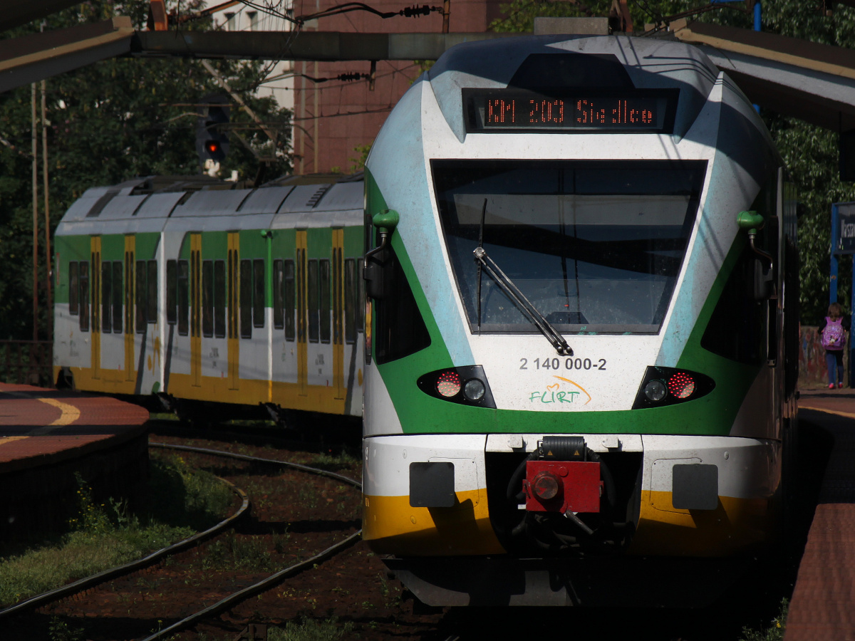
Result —
[[[855, 641], [855, 390], [800, 391], [799, 418], [834, 438], [784, 641]], [[800, 444], [810, 447], [810, 444]]]

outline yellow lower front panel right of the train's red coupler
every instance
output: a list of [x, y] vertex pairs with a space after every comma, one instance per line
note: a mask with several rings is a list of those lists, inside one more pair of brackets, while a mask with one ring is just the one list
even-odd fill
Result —
[[629, 552], [637, 555], [729, 556], [774, 536], [775, 510], [765, 498], [718, 497], [718, 508], [670, 506], [670, 492], [641, 494], [639, 526]]

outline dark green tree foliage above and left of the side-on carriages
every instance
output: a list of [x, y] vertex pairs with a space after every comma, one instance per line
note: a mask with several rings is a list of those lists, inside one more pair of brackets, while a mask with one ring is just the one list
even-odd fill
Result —
[[[170, 2], [170, 5], [177, 0]], [[181, 3], [186, 12], [198, 0]], [[145, 28], [147, 0], [91, 0], [74, 9], [50, 15], [45, 30], [129, 15], [134, 26]], [[38, 31], [31, 23], [6, 38]], [[191, 28], [210, 28], [205, 21]], [[221, 175], [254, 179], [256, 156], [273, 157], [268, 175], [290, 170], [291, 114], [272, 97], [252, 93], [262, 75], [259, 62], [211, 63], [235, 91], [276, 133], [270, 141], [256, 122], [230, 98], [230, 150]], [[180, 58], [114, 58], [61, 74], [46, 81], [48, 172], [51, 231], [71, 203], [88, 188], [115, 185], [134, 176], [201, 173], [196, 152], [197, 105], [209, 93], [223, 93], [202, 62]], [[40, 97], [39, 97], [40, 102]], [[40, 107], [40, 105], [39, 105]], [[39, 109], [40, 112], [40, 109]], [[0, 261], [7, 272], [0, 280], [0, 338], [32, 336], [32, 162], [30, 160], [31, 87], [0, 94]], [[238, 134], [251, 146], [245, 148]], [[41, 136], [38, 136], [41, 157]], [[39, 169], [41, 172], [41, 169]], [[39, 221], [44, 227], [42, 178], [38, 178]], [[40, 335], [46, 328], [44, 285], [44, 229], [39, 232]]]

